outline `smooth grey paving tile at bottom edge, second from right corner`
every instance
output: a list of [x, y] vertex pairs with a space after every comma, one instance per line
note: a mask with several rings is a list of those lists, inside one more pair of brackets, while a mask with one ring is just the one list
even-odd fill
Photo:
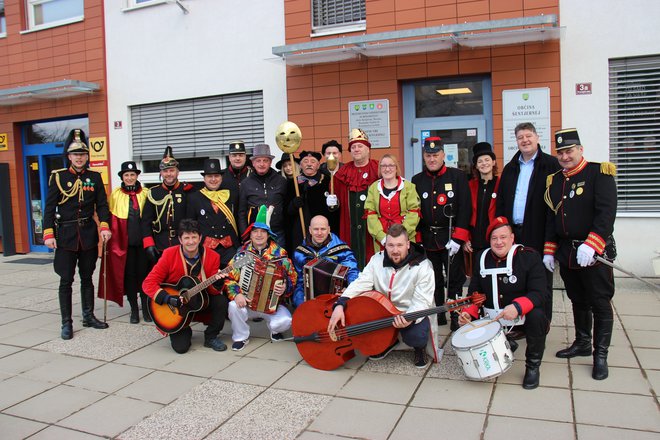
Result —
[[575, 438], [572, 423], [513, 417], [488, 417], [484, 440], [499, 439], [569, 440]]

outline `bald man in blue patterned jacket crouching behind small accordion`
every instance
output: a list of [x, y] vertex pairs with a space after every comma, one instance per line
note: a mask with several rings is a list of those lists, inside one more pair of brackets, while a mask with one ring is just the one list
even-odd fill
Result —
[[305, 265], [315, 258], [325, 258], [347, 266], [349, 269], [345, 281], [348, 284], [355, 281], [360, 275], [355, 254], [346, 243], [330, 232], [328, 219], [322, 215], [312, 217], [309, 223], [309, 235], [293, 253], [293, 264], [298, 273], [298, 282], [293, 292], [293, 305], [295, 307], [305, 301], [303, 271]]

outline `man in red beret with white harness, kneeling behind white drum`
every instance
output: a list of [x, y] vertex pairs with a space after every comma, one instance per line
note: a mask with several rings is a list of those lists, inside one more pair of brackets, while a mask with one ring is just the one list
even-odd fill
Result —
[[[539, 386], [545, 335], [550, 325], [543, 309], [546, 295], [543, 261], [534, 249], [514, 244], [513, 229], [505, 217], [493, 219], [486, 236], [490, 248], [476, 257], [479, 264], [474, 265], [468, 292], [486, 295], [483, 304], [486, 316], [503, 320], [505, 325], [524, 327], [527, 350], [522, 386], [531, 390]], [[459, 324], [465, 325], [478, 317], [477, 306], [467, 307], [459, 316]], [[509, 342], [515, 350], [517, 343]]]

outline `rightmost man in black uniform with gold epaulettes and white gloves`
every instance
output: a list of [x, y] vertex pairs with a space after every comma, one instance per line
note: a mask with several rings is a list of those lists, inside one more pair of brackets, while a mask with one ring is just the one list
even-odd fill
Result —
[[599, 255], [614, 260], [616, 218], [616, 169], [608, 162], [587, 162], [577, 130], [555, 133], [557, 157], [562, 171], [548, 176], [545, 201], [550, 207], [543, 263], [559, 273], [573, 304], [575, 341], [557, 357], [591, 354], [593, 316], [593, 371], [596, 380], [606, 379], [607, 351], [612, 339], [614, 296], [612, 268], [596, 262]]

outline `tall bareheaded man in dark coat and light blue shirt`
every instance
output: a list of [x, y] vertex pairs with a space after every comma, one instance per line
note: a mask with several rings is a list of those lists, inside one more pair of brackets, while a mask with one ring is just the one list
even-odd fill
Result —
[[[543, 253], [545, 219], [548, 207], [543, 202], [545, 178], [557, 172], [559, 162], [544, 153], [539, 145], [539, 135], [531, 122], [523, 122], [515, 128], [518, 152], [506, 164], [497, 190], [495, 215], [504, 216], [512, 224], [516, 242]], [[552, 320], [552, 272], [546, 274], [547, 300], [544, 304], [548, 321]]]

